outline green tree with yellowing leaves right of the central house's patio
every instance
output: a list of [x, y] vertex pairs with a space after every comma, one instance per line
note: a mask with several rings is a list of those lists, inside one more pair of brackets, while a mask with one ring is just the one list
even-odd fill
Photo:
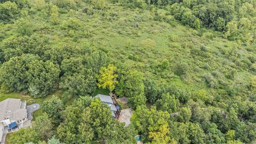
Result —
[[170, 115], [167, 111], [157, 111], [156, 107], [148, 109], [146, 106], [139, 106], [131, 117], [131, 123], [141, 133], [143, 142], [168, 143], [169, 129], [167, 120]]

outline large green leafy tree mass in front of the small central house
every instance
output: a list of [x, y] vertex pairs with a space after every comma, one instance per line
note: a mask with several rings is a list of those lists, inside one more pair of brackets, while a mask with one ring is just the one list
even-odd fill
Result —
[[112, 118], [107, 105], [88, 97], [79, 98], [67, 108], [65, 121], [57, 131], [60, 140], [66, 143], [132, 143], [135, 137], [133, 127], [124, 127]]

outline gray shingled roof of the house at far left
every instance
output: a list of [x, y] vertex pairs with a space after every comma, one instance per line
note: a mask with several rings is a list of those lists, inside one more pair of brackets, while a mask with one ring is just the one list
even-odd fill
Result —
[[9, 117], [11, 121], [18, 121], [27, 116], [27, 109], [20, 109], [20, 99], [5, 99], [0, 102], [0, 121]]

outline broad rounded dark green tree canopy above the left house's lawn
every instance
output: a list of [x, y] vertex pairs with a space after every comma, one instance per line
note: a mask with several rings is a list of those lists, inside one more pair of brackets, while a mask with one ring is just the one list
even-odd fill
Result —
[[10, 91], [45, 97], [57, 89], [59, 66], [43, 62], [33, 54], [24, 54], [5, 62], [1, 68], [1, 83]]

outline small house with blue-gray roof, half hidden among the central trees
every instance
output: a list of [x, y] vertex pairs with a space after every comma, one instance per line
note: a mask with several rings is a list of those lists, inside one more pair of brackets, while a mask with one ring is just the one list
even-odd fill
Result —
[[111, 114], [113, 118], [119, 117], [119, 107], [116, 106], [116, 100], [112, 99], [108, 95], [103, 95], [103, 94], [97, 94], [94, 98], [99, 98], [102, 103], [106, 103], [110, 107]]

